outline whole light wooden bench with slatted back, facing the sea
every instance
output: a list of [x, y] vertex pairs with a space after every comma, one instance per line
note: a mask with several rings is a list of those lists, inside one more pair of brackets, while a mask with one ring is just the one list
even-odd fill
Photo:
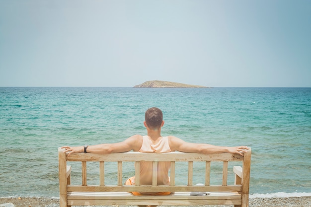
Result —
[[[183, 152], [169, 153], [142, 153], [125, 152], [113, 154], [92, 154], [76, 153], [68, 156], [63, 153], [64, 149], [59, 148], [59, 182], [60, 182], [60, 207], [80, 205], [159, 205], [159, 206], [197, 206], [197, 205], [234, 205], [234, 207], [248, 207], [249, 174], [251, 149], [244, 153], [244, 156], [230, 153], [219, 154], [197, 154]], [[67, 162], [81, 162], [81, 184], [71, 184], [72, 167]], [[152, 161], [154, 169], [158, 161], [170, 161], [170, 185], [157, 186], [156, 173], [153, 173], [153, 184], [142, 186], [139, 181], [140, 161]], [[203, 186], [193, 183], [195, 170], [194, 164], [200, 162], [205, 168], [203, 174]], [[98, 162], [98, 185], [87, 185], [86, 163]], [[116, 162], [115, 185], [105, 184], [105, 162]], [[125, 162], [133, 163], [135, 168], [136, 185], [124, 185], [122, 166]], [[187, 184], [175, 185], [179, 173], [175, 166], [177, 162], [188, 168]], [[222, 162], [222, 183], [210, 185], [211, 162]], [[234, 166], [233, 172], [228, 170], [230, 162], [239, 162], [240, 166]], [[135, 165], [134, 165], [135, 163]], [[239, 165], [239, 163], [237, 163]], [[176, 165], [175, 165], [176, 164]], [[214, 163], [213, 163], [214, 164]], [[97, 165], [96, 165], [97, 166]], [[134, 167], [135, 166], [135, 167]], [[195, 165], [196, 166], [196, 165]], [[242, 167], [241, 167], [242, 166]], [[214, 169], [214, 168], [212, 168]], [[156, 170], [154, 170], [156, 172]], [[228, 172], [232, 178], [232, 184], [228, 182]], [[213, 173], [213, 171], [212, 171]], [[134, 176], [134, 175], [132, 175]], [[128, 192], [172, 192], [167, 196], [134, 196]], [[190, 196], [189, 192], [210, 192], [208, 196]]]

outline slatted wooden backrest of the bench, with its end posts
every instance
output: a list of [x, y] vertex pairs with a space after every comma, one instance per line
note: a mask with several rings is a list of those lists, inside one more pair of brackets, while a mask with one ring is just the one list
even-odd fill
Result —
[[[198, 154], [184, 152], [168, 152], [168, 153], [142, 153], [142, 152], [123, 152], [112, 154], [92, 154], [92, 153], [74, 153], [68, 156], [63, 153], [64, 149], [59, 148], [59, 176], [60, 176], [60, 193], [67, 195], [68, 192], [238, 192], [247, 194], [249, 192], [250, 177], [250, 157], [251, 149], [244, 153], [244, 156], [230, 153], [218, 154]], [[81, 185], [71, 185], [68, 179], [67, 165], [68, 161], [81, 162], [82, 182]], [[87, 185], [86, 163], [99, 163], [99, 185]], [[140, 162], [153, 162], [153, 181], [152, 186], [142, 186], [139, 182]], [[159, 161], [171, 162], [170, 168], [170, 186], [156, 185], [156, 167]], [[188, 162], [188, 180], [187, 185], [175, 185], [175, 163], [183, 161]], [[205, 162], [205, 181], [204, 186], [196, 186], [193, 184], [193, 162]], [[228, 185], [228, 165], [229, 162], [240, 162], [242, 165], [239, 178], [236, 179], [234, 185]], [[105, 185], [105, 162], [117, 162], [117, 184]], [[135, 162], [135, 186], [126, 186], [123, 184], [123, 162]], [[223, 178], [221, 185], [210, 185], [211, 162], [223, 162]], [[239, 174], [238, 170], [235, 172]], [[66, 190], [64, 190], [66, 189]]]

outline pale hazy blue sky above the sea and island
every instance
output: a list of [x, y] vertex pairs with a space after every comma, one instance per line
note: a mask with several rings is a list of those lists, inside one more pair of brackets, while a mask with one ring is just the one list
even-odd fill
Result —
[[0, 87], [311, 87], [311, 0], [0, 0]]

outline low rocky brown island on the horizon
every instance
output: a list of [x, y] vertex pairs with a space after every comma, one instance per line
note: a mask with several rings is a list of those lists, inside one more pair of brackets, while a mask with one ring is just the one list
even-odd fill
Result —
[[176, 83], [162, 80], [150, 80], [142, 84], [135, 85], [134, 88], [206, 88], [206, 86], [189, 85], [184, 83]]

